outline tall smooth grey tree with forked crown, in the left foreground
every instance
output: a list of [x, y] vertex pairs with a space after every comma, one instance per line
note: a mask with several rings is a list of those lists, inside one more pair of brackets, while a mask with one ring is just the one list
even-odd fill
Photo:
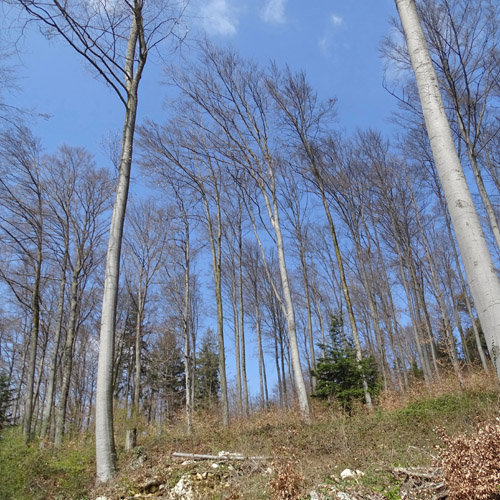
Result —
[[180, 18], [187, 2], [133, 0], [109, 4], [60, 3], [57, 0], [12, 0], [31, 19], [42, 23], [47, 36], [64, 39], [115, 91], [125, 107], [118, 180], [111, 227], [102, 305], [96, 394], [97, 481], [116, 471], [113, 436], [113, 352], [120, 275], [123, 224], [130, 182], [138, 91], [149, 52], [167, 37], [184, 37]]

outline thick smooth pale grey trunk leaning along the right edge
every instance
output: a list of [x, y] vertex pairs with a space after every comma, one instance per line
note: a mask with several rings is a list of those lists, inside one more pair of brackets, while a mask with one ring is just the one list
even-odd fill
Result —
[[417, 80], [427, 132], [465, 273], [500, 377], [500, 283], [455, 149], [414, 0], [396, 0]]

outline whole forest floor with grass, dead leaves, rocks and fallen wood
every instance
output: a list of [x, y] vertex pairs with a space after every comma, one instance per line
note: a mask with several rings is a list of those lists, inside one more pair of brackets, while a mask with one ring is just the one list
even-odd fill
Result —
[[[499, 385], [477, 372], [464, 389], [450, 377], [431, 390], [415, 383], [404, 395], [386, 393], [372, 412], [360, 407], [346, 415], [315, 402], [310, 425], [273, 409], [233, 418], [227, 429], [215, 415], [198, 414], [191, 436], [181, 421], [144, 426], [128, 453], [118, 419], [120, 472], [97, 488], [92, 436], [59, 451], [26, 449], [18, 430], [8, 429], [0, 441], [0, 500], [437, 500], [447, 496], [439, 468], [443, 436], [473, 435], [499, 410]], [[342, 479], [345, 469], [353, 474]]]

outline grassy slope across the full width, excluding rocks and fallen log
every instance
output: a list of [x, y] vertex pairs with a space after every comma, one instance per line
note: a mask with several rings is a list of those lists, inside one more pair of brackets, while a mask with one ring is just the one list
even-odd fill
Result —
[[[18, 431], [10, 429], [0, 441], [0, 500], [83, 500], [100, 493], [109, 498], [132, 497], [141, 484], [153, 478], [173, 486], [183, 474], [194, 476], [207, 470], [212, 471], [204, 486], [207, 499], [270, 498], [273, 481], [275, 489], [285, 488], [287, 483], [295, 485], [306, 498], [308, 491], [331, 482], [347, 467], [366, 473], [361, 480], [366, 487], [385, 498], [399, 498], [397, 485], [385, 471], [394, 466], [432, 465], [439, 444], [434, 431], [437, 426], [448, 435], [472, 433], [479, 423], [497, 417], [499, 401], [497, 384], [478, 373], [469, 376], [463, 391], [448, 381], [431, 392], [415, 386], [411, 394], [385, 395], [371, 414], [360, 408], [350, 417], [316, 404], [309, 426], [302, 425], [293, 412], [279, 410], [233, 420], [229, 429], [222, 429], [214, 416], [198, 415], [196, 432], [190, 437], [183, 434], [181, 423], [161, 430], [145, 428], [141, 446], [132, 455], [120, 449], [125, 426], [118, 425], [121, 472], [113, 487], [98, 491], [91, 490], [91, 437], [80, 437], [54, 453], [40, 450], [36, 444], [25, 448]], [[171, 458], [174, 451], [217, 454], [222, 450], [266, 455], [274, 457], [274, 462], [235, 463], [215, 471], [210, 463], [181, 465]], [[139, 456], [143, 461], [140, 466]], [[271, 475], [270, 465], [274, 470]], [[279, 494], [275, 497], [280, 498]]]

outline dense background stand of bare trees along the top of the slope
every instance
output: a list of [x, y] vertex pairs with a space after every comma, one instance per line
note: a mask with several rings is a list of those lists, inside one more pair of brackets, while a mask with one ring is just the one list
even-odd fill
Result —
[[[325, 360], [342, 352], [354, 368], [372, 360], [385, 390], [406, 391], [415, 378], [430, 385], [448, 371], [461, 382], [475, 365], [491, 371], [406, 46], [397, 37], [384, 45], [403, 96], [399, 134], [384, 137], [341, 133], [335, 100], [322, 100], [304, 73], [200, 44], [167, 72], [177, 98], [165, 120], [136, 131], [149, 190], [124, 219], [137, 85], [147, 44], [159, 43], [145, 37], [139, 4], [122, 13], [139, 66], [122, 54], [111, 67], [123, 71], [99, 69], [126, 111], [117, 179], [82, 148], [46, 154], [23, 125], [0, 134], [0, 369], [9, 420], [26, 440], [59, 446], [94, 425], [103, 338], [130, 446], [141, 420], [185, 418], [192, 432], [198, 410], [228, 425], [297, 404], [308, 421]], [[417, 7], [497, 265], [498, 8]], [[69, 27], [57, 29], [74, 40]], [[103, 293], [111, 302], [101, 314]], [[368, 406], [374, 386], [361, 376]]]

